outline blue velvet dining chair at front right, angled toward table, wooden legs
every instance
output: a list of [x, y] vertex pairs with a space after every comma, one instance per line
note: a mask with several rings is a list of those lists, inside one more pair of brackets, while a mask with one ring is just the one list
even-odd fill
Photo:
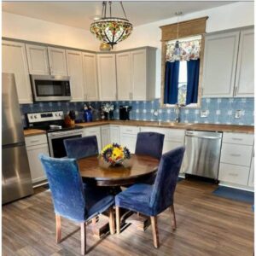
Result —
[[150, 216], [154, 247], [159, 247], [157, 215], [170, 207], [172, 229], [176, 230], [173, 195], [177, 176], [182, 165], [185, 148], [179, 147], [163, 154], [154, 185], [137, 183], [115, 196], [116, 229], [120, 232], [119, 207]]

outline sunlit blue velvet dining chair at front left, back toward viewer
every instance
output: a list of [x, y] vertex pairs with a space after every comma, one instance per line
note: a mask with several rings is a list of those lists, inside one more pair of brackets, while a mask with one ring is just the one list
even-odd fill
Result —
[[113, 195], [86, 187], [75, 159], [55, 159], [43, 154], [39, 159], [49, 182], [55, 209], [56, 242], [61, 242], [61, 217], [80, 224], [81, 253], [86, 253], [86, 222], [109, 211], [109, 229], [114, 233]]

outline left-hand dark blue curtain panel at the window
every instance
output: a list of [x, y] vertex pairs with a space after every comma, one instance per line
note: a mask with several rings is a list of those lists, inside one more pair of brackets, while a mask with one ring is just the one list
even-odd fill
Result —
[[178, 84], [179, 61], [166, 61], [166, 76], [165, 76], [165, 104], [177, 103], [177, 84]]

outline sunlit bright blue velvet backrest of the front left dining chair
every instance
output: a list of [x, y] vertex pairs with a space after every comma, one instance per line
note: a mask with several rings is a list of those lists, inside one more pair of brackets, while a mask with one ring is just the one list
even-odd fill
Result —
[[84, 221], [84, 188], [75, 159], [55, 159], [39, 154], [49, 182], [55, 213], [74, 221]]

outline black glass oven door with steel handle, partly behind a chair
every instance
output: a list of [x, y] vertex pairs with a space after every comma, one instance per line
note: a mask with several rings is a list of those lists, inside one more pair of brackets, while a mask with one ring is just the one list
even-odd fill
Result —
[[81, 130], [48, 133], [49, 155], [55, 158], [67, 157], [63, 141], [68, 138], [83, 137], [83, 131]]

